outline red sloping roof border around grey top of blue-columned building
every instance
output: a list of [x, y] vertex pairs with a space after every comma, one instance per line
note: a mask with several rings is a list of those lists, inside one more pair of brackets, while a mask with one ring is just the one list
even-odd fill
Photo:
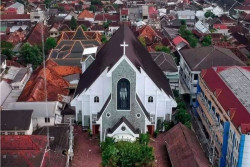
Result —
[[[209, 68], [202, 70], [201, 76], [211, 92], [214, 92], [218, 89], [221, 90], [221, 93], [217, 96], [217, 100], [226, 112], [230, 112], [231, 121], [233, 122], [234, 126], [238, 128], [241, 126], [241, 124], [250, 123], [250, 114], [219, 76], [219, 72], [236, 67], [237, 66]], [[250, 71], [250, 67], [238, 68], [244, 68]]]

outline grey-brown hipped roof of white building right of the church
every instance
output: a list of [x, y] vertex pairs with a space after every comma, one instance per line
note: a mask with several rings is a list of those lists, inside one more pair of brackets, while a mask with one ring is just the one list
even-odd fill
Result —
[[193, 71], [201, 71], [213, 66], [245, 65], [229, 49], [216, 46], [183, 49], [180, 53]]

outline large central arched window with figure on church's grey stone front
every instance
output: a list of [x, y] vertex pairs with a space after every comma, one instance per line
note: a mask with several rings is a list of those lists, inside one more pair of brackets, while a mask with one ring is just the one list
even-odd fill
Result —
[[117, 110], [130, 110], [130, 82], [125, 78], [117, 83]]

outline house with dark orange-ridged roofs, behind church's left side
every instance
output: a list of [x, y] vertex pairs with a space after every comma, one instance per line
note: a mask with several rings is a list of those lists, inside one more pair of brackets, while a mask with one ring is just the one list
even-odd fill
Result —
[[[50, 52], [49, 58], [59, 65], [84, 66], [95, 58], [101, 44], [101, 34], [95, 31], [83, 31], [79, 26], [76, 31], [65, 31], [57, 46]], [[89, 59], [90, 58], [90, 59]], [[82, 68], [84, 71], [84, 67]]]

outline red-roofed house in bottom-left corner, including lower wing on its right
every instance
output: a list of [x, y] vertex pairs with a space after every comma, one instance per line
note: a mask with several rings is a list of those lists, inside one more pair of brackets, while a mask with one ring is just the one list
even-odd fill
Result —
[[65, 155], [47, 149], [47, 136], [1, 136], [2, 166], [66, 166]]

